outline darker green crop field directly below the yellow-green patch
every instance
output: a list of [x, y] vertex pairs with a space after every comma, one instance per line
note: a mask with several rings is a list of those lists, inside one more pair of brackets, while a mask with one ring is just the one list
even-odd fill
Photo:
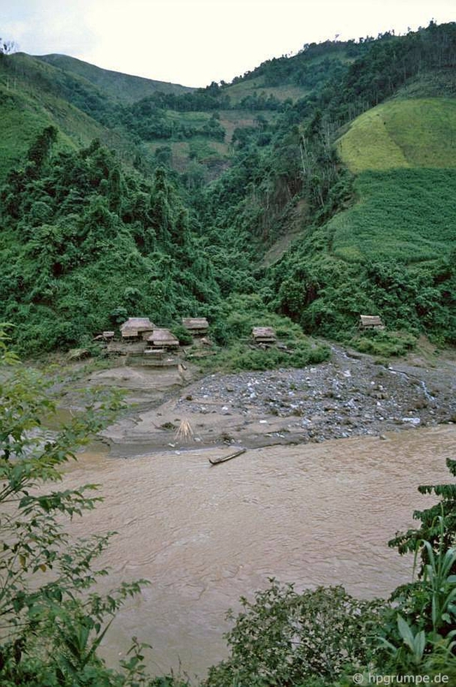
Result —
[[337, 257], [410, 264], [455, 247], [455, 169], [364, 172], [356, 191], [358, 203], [328, 225]]

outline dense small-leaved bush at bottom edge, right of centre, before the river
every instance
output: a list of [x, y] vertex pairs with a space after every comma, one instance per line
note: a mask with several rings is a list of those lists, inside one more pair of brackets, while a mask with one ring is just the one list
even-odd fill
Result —
[[253, 603], [241, 602], [243, 611], [227, 634], [230, 657], [210, 669], [206, 687], [323, 683], [373, 658], [382, 601], [359, 601], [342, 587], [298, 594], [272, 579]]

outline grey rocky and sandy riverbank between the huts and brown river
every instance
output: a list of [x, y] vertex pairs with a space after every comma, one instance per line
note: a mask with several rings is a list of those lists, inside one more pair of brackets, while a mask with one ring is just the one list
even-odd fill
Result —
[[[378, 365], [332, 346], [328, 362], [304, 369], [210, 374], [197, 381], [126, 368], [115, 376], [149, 407], [105, 432], [113, 456], [156, 450], [321, 442], [456, 421], [456, 362], [415, 358]], [[112, 377], [104, 371], [92, 381]], [[159, 382], [159, 379], [156, 380]], [[163, 382], [163, 380], [161, 380]], [[179, 386], [176, 386], [179, 384]], [[185, 429], [185, 431], [182, 431]]]

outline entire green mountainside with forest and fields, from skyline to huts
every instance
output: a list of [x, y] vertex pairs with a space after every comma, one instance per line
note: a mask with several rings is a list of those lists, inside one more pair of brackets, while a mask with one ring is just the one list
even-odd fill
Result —
[[268, 311], [364, 350], [454, 343], [455, 67], [433, 22], [206, 89], [0, 55], [0, 319], [27, 353], [126, 315], [226, 343]]

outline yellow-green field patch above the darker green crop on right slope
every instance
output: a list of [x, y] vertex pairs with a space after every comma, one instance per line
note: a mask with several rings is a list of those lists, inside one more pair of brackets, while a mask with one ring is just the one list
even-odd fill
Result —
[[456, 166], [456, 100], [390, 100], [357, 117], [337, 143], [354, 174]]

